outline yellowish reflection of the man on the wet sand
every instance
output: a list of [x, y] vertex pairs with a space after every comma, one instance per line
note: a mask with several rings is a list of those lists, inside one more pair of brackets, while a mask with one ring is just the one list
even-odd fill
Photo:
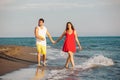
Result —
[[37, 67], [35, 76], [32, 80], [42, 80], [45, 75], [45, 67]]

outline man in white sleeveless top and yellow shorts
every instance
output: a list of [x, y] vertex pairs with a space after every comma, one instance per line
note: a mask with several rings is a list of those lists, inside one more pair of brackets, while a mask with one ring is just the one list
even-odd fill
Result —
[[44, 26], [44, 19], [40, 18], [38, 21], [38, 26], [35, 28], [38, 66], [41, 66], [41, 55], [43, 57], [43, 66], [46, 66], [46, 35], [52, 43], [55, 43], [47, 28]]

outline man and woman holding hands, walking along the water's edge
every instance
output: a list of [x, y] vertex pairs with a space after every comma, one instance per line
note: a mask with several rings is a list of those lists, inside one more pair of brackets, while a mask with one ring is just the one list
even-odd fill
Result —
[[68, 53], [68, 57], [65, 63], [65, 67], [69, 67], [69, 63], [72, 64], [72, 68], [75, 67], [74, 63], [74, 53], [76, 52], [76, 43], [79, 46], [79, 49], [82, 50], [80, 42], [78, 40], [77, 32], [74, 29], [74, 26], [71, 22], [67, 22], [66, 29], [62, 33], [62, 35], [54, 41], [48, 32], [47, 28], [44, 26], [44, 19], [40, 18], [38, 21], [38, 26], [35, 28], [35, 37], [36, 37], [36, 46], [37, 46], [37, 60], [38, 66], [41, 66], [40, 59], [41, 55], [43, 57], [43, 66], [46, 66], [46, 35], [50, 39], [53, 44], [59, 42], [64, 36], [64, 45], [62, 51]]

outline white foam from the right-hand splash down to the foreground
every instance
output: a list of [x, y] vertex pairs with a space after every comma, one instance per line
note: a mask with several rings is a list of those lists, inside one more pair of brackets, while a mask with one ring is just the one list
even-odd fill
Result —
[[[96, 55], [88, 59], [82, 65], [76, 65], [74, 70], [87, 70], [97, 66], [112, 66], [112, 65], [114, 65], [112, 59], [104, 57], [103, 55]], [[49, 80], [63, 79], [68, 75], [73, 74], [74, 70], [67, 69], [51, 70], [50, 74], [48, 75], [48, 79]]]

